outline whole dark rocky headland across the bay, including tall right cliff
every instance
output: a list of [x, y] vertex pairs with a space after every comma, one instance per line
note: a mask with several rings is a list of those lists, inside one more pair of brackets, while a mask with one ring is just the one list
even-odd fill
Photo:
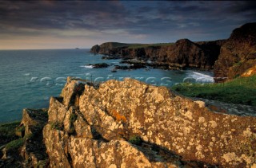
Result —
[[104, 59], [153, 61], [157, 68], [214, 70], [215, 81], [222, 82], [241, 76], [256, 64], [255, 29], [256, 23], [247, 23], [234, 29], [230, 38], [218, 41], [181, 39], [152, 45], [106, 42], [94, 45], [90, 53], [105, 54]]

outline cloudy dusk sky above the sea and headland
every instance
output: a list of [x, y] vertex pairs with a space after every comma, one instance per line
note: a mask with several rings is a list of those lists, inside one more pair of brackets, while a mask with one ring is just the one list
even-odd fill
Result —
[[0, 49], [211, 41], [256, 21], [250, 1], [3, 1]]

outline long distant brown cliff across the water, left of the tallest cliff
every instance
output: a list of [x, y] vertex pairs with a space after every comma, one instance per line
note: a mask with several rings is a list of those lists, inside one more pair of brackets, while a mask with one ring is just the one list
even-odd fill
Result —
[[101, 53], [121, 58], [138, 58], [169, 64], [170, 68], [214, 68], [224, 41], [192, 42], [182, 39], [172, 44], [139, 45], [107, 42], [94, 45], [91, 53]]

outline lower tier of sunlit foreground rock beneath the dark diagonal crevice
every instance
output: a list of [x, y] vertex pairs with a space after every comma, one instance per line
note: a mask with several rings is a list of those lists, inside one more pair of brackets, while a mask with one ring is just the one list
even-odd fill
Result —
[[[43, 135], [50, 167], [178, 167], [182, 164], [175, 157], [169, 158], [172, 162], [165, 162], [150, 150], [144, 154], [124, 140], [104, 142], [90, 137], [69, 137], [50, 124], [44, 128]], [[152, 158], [158, 159], [152, 162]]]

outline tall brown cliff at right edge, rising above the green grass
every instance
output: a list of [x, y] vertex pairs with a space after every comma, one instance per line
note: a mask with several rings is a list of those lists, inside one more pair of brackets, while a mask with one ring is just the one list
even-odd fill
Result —
[[[247, 23], [234, 29], [222, 45], [218, 61], [214, 65], [216, 81], [222, 77], [233, 79], [256, 64], [256, 23]], [[218, 79], [220, 78], [220, 79]]]

